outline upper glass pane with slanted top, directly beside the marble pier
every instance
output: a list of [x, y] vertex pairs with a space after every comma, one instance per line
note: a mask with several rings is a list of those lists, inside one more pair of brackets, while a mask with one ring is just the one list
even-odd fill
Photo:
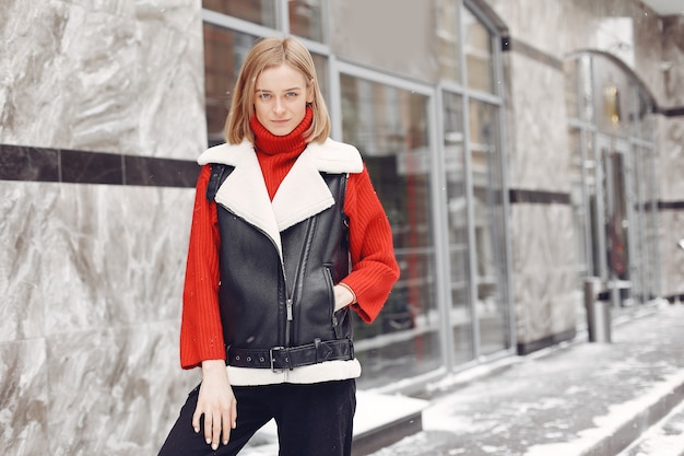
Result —
[[465, 30], [464, 48], [468, 86], [494, 93], [492, 35], [473, 13], [465, 8], [462, 11], [462, 23]]

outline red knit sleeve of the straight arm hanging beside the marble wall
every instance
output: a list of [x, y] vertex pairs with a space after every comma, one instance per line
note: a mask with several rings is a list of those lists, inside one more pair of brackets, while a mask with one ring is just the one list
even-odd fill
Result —
[[207, 199], [211, 167], [202, 167], [194, 196], [190, 244], [182, 292], [180, 365], [197, 367], [204, 360], [225, 360], [219, 311], [219, 219]]

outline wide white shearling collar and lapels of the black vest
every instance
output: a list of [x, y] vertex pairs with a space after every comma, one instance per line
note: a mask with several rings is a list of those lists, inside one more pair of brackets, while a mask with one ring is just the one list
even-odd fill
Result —
[[257, 154], [248, 141], [221, 144], [198, 159], [200, 165], [234, 167], [216, 191], [216, 202], [271, 237], [282, 258], [280, 232], [334, 204], [320, 172], [361, 173], [363, 161], [353, 145], [327, 139], [309, 143], [270, 200]]

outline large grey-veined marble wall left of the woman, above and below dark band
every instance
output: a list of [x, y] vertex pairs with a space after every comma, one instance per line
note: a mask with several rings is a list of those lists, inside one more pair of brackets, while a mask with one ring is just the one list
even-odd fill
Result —
[[[119, 163], [204, 148], [199, 2], [3, 0], [0, 16], [0, 144]], [[198, 381], [178, 363], [192, 188], [0, 194], [1, 453], [155, 454]]]

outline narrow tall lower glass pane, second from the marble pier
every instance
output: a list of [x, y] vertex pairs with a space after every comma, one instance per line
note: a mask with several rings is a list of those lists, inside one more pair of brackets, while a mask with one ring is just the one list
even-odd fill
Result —
[[472, 313], [470, 306], [470, 267], [468, 250], [468, 191], [463, 140], [463, 98], [445, 92], [444, 149], [447, 182], [449, 261], [451, 269], [450, 325], [456, 363], [473, 359]]

